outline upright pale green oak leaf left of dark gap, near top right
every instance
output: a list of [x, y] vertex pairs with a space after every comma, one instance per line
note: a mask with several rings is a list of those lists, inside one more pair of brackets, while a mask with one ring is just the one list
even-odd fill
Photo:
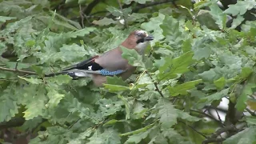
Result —
[[210, 14], [213, 16], [215, 23], [218, 27], [223, 30], [226, 27], [226, 14], [223, 14], [223, 11], [218, 7], [216, 3], [209, 6]]

